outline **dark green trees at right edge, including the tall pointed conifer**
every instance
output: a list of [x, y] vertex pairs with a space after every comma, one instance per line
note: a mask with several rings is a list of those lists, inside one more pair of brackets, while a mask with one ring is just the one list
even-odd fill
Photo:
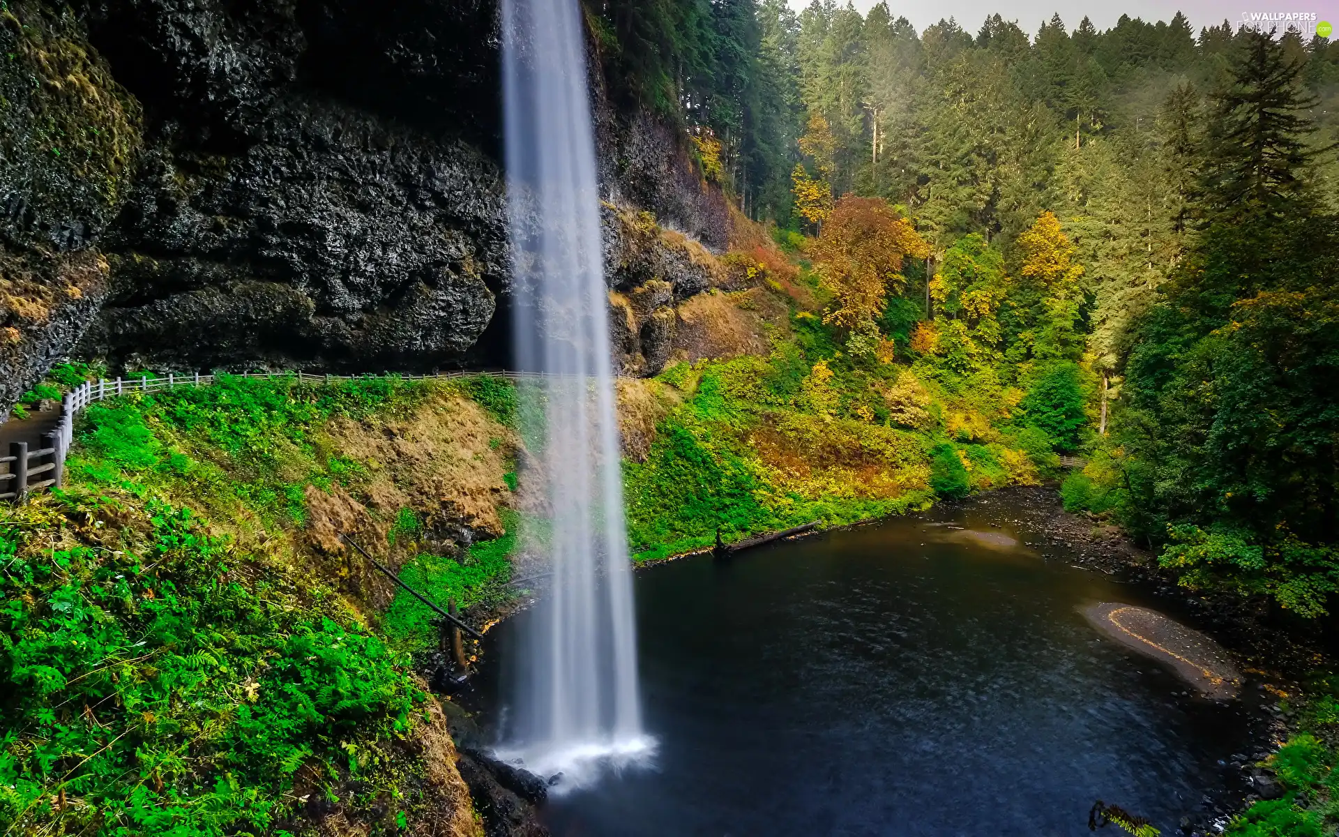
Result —
[[1067, 500], [1161, 545], [1188, 587], [1319, 616], [1339, 591], [1323, 383], [1339, 374], [1339, 222], [1315, 192], [1304, 70], [1264, 36], [1235, 59], [1196, 150], [1198, 230], [1133, 320], [1111, 435]]

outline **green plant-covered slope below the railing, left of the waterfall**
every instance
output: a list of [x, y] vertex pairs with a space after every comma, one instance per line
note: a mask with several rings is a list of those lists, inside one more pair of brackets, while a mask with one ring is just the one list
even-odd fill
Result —
[[[54, 375], [70, 387], [86, 372]], [[443, 604], [495, 601], [514, 520], [461, 562], [423, 554], [414, 509], [353, 500], [386, 463], [339, 435], [340, 422], [396, 426], [470, 392], [505, 418], [510, 384], [493, 383], [218, 376], [91, 406], [66, 490], [0, 506], [0, 822], [287, 834], [307, 828], [313, 798], [372, 834], [442, 817], [414, 745], [432, 733], [407, 655], [427, 613], [406, 597], [384, 619], [358, 609], [312, 491], [343, 502], [370, 549], [400, 556], [407, 583]]]

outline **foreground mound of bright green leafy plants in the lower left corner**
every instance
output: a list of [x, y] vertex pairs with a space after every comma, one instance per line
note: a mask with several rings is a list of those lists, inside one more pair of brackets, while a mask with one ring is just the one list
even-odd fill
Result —
[[355, 809], [416, 805], [394, 741], [423, 698], [406, 660], [189, 510], [47, 494], [7, 512], [0, 564], [11, 828], [284, 833], [303, 797], [351, 779]]

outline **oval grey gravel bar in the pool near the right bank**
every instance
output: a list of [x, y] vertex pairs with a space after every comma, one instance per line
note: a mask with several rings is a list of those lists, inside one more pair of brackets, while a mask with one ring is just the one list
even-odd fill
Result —
[[1209, 698], [1235, 698], [1241, 687], [1241, 672], [1221, 645], [1157, 611], [1103, 601], [1082, 613], [1115, 641], [1168, 666]]

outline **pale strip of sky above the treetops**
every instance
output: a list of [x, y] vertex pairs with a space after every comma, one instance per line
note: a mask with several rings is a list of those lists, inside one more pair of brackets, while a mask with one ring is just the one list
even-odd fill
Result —
[[[838, 0], [845, 3], [845, 0]], [[868, 12], [878, 0], [852, 0], [861, 12]], [[789, 0], [799, 11], [809, 0]], [[1035, 35], [1043, 20], [1059, 12], [1073, 31], [1087, 15], [1099, 29], [1115, 25], [1121, 15], [1144, 20], [1170, 20], [1177, 9], [1185, 12], [1194, 31], [1223, 23], [1236, 24], [1243, 13], [1251, 12], [1311, 12], [1318, 20], [1328, 20], [1339, 28], [1339, 0], [886, 0], [893, 17], [907, 17], [924, 31], [941, 17], [956, 17], [969, 32], [976, 32], [988, 15], [999, 12], [1006, 20], [1016, 20], [1024, 32]], [[1331, 36], [1331, 39], [1335, 36]]]

